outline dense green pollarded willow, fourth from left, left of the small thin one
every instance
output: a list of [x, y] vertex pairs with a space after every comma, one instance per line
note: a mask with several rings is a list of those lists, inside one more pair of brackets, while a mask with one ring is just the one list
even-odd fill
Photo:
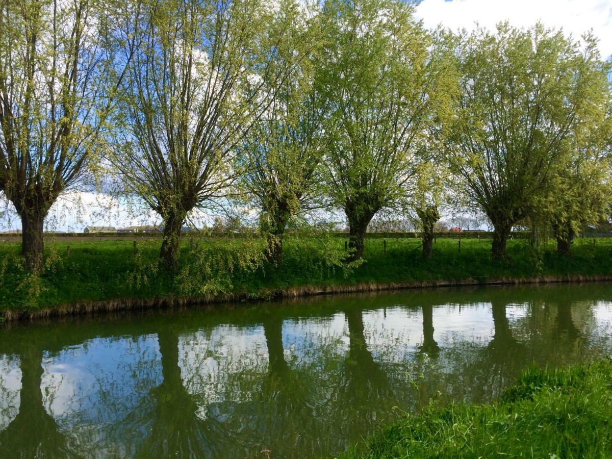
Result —
[[449, 106], [449, 72], [432, 58], [434, 37], [406, 2], [329, 0], [323, 28], [326, 181], [345, 211], [355, 260], [376, 212], [411, 195], [427, 125]]

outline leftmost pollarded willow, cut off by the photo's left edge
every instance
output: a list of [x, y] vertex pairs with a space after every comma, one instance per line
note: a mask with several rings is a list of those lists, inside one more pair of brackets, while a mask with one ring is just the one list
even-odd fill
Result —
[[21, 250], [34, 271], [43, 267], [49, 209], [82, 184], [111, 108], [107, 7], [121, 10], [97, 0], [0, 4], [0, 192], [21, 218]]

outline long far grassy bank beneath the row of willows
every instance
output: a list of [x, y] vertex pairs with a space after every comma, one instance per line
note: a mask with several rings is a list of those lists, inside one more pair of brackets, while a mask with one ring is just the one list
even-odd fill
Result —
[[263, 260], [258, 239], [194, 238], [182, 242], [181, 268], [174, 273], [158, 263], [159, 239], [139, 238], [136, 246], [134, 241], [50, 241], [46, 268], [39, 276], [23, 268], [18, 242], [0, 244], [0, 312], [108, 300], [269, 297], [310, 286], [351, 289], [612, 275], [612, 239], [606, 238], [580, 239], [570, 256], [559, 256], [553, 241], [535, 252], [528, 241], [513, 240], [508, 262], [491, 260], [487, 240], [463, 239], [460, 246], [457, 239], [438, 239], [434, 258], [423, 259], [419, 239], [389, 239], [385, 247], [383, 240], [371, 238], [365, 262], [351, 269], [343, 266], [345, 239], [340, 237], [289, 237], [282, 267]]

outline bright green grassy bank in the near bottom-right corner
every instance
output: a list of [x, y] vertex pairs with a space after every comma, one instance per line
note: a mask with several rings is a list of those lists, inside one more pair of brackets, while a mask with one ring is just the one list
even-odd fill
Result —
[[612, 455], [612, 364], [524, 371], [496, 403], [432, 406], [347, 457], [605, 458]]

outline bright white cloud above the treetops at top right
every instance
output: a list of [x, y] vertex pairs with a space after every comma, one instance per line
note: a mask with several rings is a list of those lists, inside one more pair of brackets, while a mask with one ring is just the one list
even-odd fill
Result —
[[576, 39], [592, 29], [602, 56], [612, 55], [612, 0], [423, 0], [417, 17], [429, 28], [442, 24], [452, 30], [471, 30], [476, 23], [493, 29], [504, 20], [519, 27], [540, 21]]

